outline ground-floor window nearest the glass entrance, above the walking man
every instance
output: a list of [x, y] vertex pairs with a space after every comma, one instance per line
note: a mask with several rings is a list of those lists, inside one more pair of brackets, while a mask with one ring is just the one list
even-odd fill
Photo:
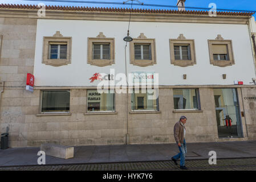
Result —
[[174, 109], [200, 110], [197, 89], [173, 89]]

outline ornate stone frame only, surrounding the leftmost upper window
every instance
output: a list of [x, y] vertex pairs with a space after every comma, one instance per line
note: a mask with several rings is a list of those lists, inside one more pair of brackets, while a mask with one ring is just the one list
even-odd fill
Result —
[[[67, 59], [49, 59], [50, 43], [66, 44], [67, 43]], [[43, 37], [43, 59], [42, 63], [59, 67], [71, 63], [72, 37], [64, 37], [60, 31], [56, 31], [53, 36]]]

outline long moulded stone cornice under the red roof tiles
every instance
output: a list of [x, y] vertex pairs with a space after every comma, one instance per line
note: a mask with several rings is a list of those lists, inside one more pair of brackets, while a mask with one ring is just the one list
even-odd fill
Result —
[[[129, 21], [129, 9], [46, 6], [46, 16], [38, 16], [35, 5], [0, 5], [2, 18], [70, 19]], [[218, 12], [209, 16], [208, 11], [142, 10], [132, 9], [133, 22], [179, 22], [248, 24], [253, 13]]]

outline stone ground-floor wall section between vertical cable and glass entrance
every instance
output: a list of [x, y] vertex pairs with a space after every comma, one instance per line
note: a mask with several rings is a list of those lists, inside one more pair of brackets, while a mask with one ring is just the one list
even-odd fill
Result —
[[130, 143], [174, 143], [173, 126], [181, 115], [186, 115], [187, 142], [213, 142], [218, 137], [213, 89], [201, 88], [202, 112], [173, 113], [173, 89], [159, 89], [157, 114], [130, 114]]

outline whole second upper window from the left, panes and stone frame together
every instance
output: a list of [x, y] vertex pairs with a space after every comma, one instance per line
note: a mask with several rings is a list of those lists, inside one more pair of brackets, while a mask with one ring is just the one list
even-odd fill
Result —
[[96, 38], [88, 38], [87, 63], [104, 67], [115, 63], [115, 39], [106, 38], [100, 32]]

